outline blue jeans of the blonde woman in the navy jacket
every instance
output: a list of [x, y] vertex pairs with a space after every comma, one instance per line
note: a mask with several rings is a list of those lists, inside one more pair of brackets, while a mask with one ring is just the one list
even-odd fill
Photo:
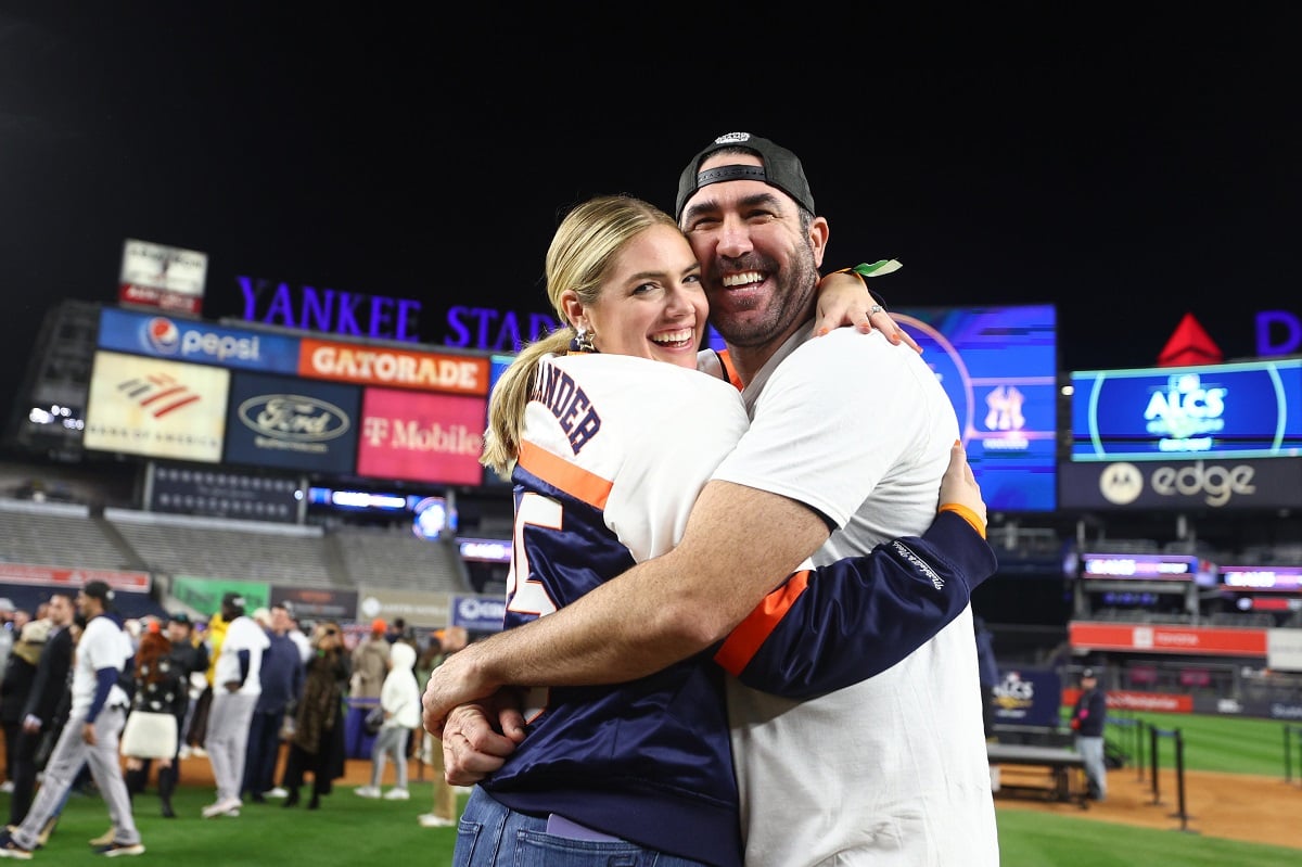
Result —
[[457, 825], [454, 867], [706, 867], [631, 842], [569, 840], [547, 833], [547, 818], [516, 812], [475, 786]]

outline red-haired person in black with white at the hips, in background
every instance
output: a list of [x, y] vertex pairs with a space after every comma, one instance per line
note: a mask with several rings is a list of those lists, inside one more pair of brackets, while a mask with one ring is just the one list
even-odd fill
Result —
[[[132, 713], [167, 713], [176, 721], [177, 750], [181, 743], [181, 722], [190, 704], [190, 676], [184, 664], [173, 656], [172, 639], [164, 634], [159, 621], [150, 621], [141, 635], [135, 651], [135, 695], [132, 698]], [[164, 819], [176, 819], [172, 808], [172, 794], [176, 791], [176, 763], [172, 756], [159, 759], [159, 802]], [[150, 780], [152, 759], [126, 756], [126, 791], [134, 797], [145, 791]]]

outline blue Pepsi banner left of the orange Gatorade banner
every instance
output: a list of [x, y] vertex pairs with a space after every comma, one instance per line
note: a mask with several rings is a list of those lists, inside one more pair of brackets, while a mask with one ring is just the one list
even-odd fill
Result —
[[298, 338], [224, 328], [197, 319], [139, 314], [104, 307], [99, 346], [199, 365], [298, 372]]

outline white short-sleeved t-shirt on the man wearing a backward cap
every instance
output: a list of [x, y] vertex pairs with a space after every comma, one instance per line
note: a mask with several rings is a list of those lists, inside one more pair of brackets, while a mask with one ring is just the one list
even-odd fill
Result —
[[[958, 439], [926, 357], [806, 338], [747, 385], [750, 430], [713, 478], [829, 518], [819, 565], [922, 535]], [[970, 608], [855, 686], [798, 703], [728, 678], [728, 700], [749, 867], [999, 864]]]

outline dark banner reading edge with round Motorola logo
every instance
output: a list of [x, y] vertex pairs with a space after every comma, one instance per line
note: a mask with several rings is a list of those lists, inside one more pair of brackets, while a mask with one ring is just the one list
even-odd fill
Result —
[[1302, 508], [1302, 458], [1060, 463], [1064, 509]]

